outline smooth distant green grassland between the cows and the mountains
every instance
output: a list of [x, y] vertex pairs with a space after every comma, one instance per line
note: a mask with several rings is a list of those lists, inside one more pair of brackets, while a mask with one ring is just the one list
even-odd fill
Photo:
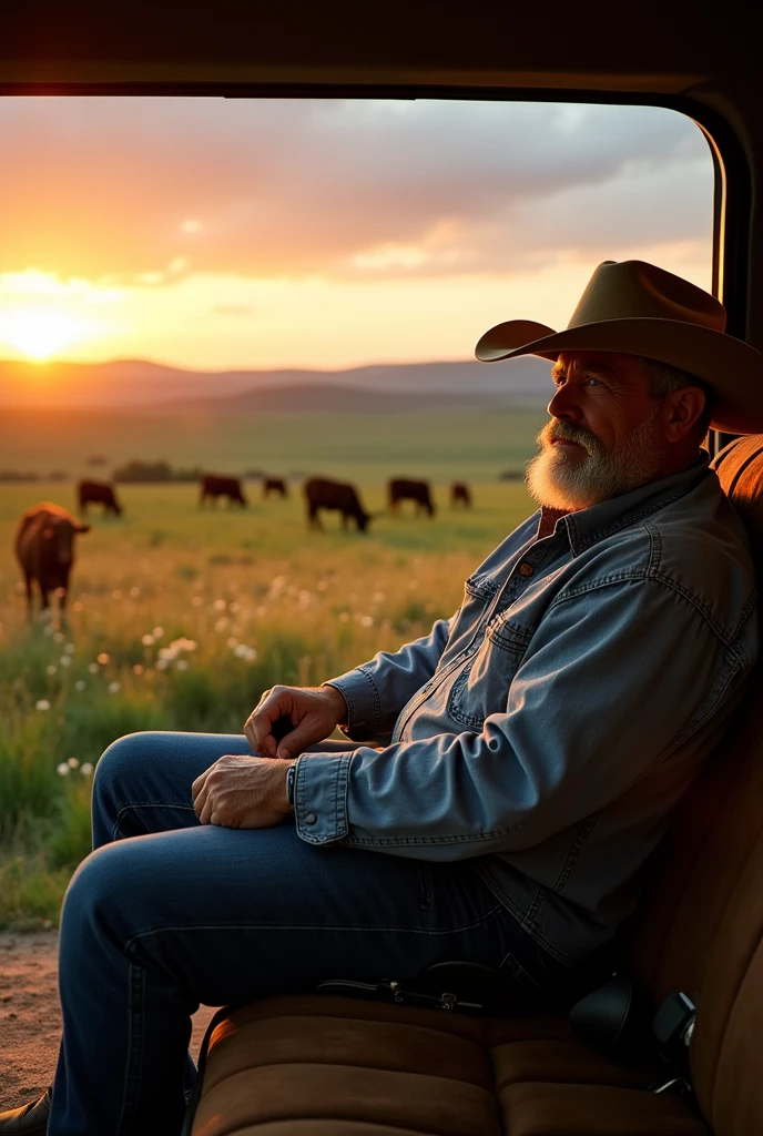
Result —
[[[394, 476], [494, 481], [522, 468], [543, 408], [468, 414], [240, 415], [3, 410], [0, 467], [78, 477], [89, 454], [210, 471], [321, 473], [363, 484]], [[91, 469], [90, 473], [93, 473]]]

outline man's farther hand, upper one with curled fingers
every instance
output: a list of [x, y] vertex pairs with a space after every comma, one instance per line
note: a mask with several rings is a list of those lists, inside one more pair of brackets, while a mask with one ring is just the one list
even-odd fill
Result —
[[[280, 742], [271, 733], [279, 718], [291, 718], [294, 727]], [[274, 686], [244, 722], [244, 734], [255, 752], [291, 760], [346, 720], [347, 703], [334, 686]]]

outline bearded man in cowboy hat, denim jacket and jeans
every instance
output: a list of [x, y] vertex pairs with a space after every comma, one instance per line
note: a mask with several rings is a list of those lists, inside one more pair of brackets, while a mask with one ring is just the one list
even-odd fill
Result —
[[[107, 750], [61, 917], [52, 1111], [0, 1134], [176, 1134], [200, 1001], [461, 959], [527, 1005], [612, 941], [757, 654], [747, 541], [701, 443], [763, 429], [763, 356], [642, 261], [600, 265], [565, 331], [477, 345], [522, 354], [553, 362], [540, 509], [450, 620], [266, 691], [244, 737]], [[337, 725], [357, 744], [325, 742]]]

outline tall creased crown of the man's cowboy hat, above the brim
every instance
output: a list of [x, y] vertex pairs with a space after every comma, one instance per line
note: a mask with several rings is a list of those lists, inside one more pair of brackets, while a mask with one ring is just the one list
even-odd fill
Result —
[[604, 260], [590, 277], [570, 327], [605, 319], [678, 319], [726, 331], [720, 300], [645, 260]]

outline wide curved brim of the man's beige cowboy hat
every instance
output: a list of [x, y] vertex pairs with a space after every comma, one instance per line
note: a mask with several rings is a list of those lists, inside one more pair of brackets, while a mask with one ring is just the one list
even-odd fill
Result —
[[561, 351], [618, 351], [689, 371], [715, 393], [711, 425], [729, 434], [763, 433], [763, 354], [748, 343], [679, 319], [604, 319], [554, 332], [545, 324], [511, 319], [492, 327], [475, 354], [483, 362]]

